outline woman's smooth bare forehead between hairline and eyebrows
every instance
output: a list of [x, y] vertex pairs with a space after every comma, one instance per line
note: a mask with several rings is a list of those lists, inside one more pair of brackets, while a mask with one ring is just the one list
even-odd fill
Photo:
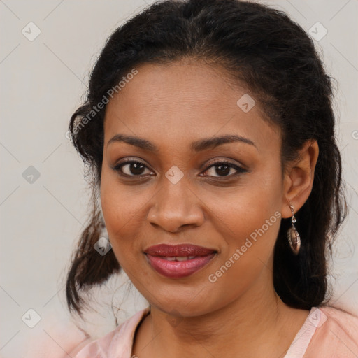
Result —
[[247, 107], [242, 102], [249, 100], [252, 106], [255, 96], [238, 83], [233, 85], [223, 69], [202, 62], [173, 62], [144, 64], [137, 70], [107, 105], [105, 145], [118, 133], [176, 148], [198, 138], [237, 134], [267, 150], [272, 139], [280, 138], [278, 128], [263, 119], [257, 102], [243, 110]]

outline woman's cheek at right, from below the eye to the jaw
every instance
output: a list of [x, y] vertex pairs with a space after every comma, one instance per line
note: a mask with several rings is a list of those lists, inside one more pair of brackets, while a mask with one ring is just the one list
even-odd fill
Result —
[[257, 173], [235, 191], [212, 195], [207, 201], [213, 213], [209, 220], [224, 238], [222, 259], [215, 267], [224, 266], [223, 281], [239, 278], [239, 285], [245, 286], [270, 259], [281, 220], [282, 187], [277, 173], [279, 169], [266, 176]]

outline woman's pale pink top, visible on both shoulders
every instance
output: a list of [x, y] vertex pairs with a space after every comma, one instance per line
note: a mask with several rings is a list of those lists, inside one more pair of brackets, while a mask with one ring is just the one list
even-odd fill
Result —
[[[81, 343], [75, 358], [131, 358], [136, 327], [148, 315], [144, 308], [95, 341]], [[73, 355], [71, 354], [71, 357]], [[358, 317], [338, 308], [313, 307], [284, 358], [357, 358]]]

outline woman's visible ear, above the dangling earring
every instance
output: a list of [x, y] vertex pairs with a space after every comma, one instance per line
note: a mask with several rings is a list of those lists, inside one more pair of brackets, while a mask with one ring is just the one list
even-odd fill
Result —
[[290, 203], [294, 206], [294, 213], [296, 213], [310, 196], [318, 153], [317, 141], [306, 141], [298, 152], [298, 158], [286, 164], [283, 179], [282, 217], [292, 216]]

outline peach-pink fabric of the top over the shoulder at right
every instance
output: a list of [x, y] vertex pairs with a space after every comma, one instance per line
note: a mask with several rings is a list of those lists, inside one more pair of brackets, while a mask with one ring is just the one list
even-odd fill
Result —
[[358, 316], [331, 306], [315, 312], [310, 321], [316, 329], [304, 357], [358, 357]]

